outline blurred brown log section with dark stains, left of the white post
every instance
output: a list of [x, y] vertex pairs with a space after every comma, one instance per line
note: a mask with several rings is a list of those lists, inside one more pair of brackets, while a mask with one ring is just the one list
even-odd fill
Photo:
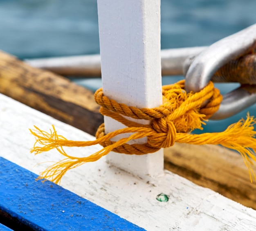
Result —
[[0, 93], [90, 134], [103, 123], [90, 90], [1, 51]]

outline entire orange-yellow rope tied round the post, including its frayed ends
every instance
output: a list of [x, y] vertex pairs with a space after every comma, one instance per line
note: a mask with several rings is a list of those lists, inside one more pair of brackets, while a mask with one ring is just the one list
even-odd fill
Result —
[[[129, 107], [115, 100], [108, 99], [103, 95], [102, 89], [97, 90], [94, 95], [95, 101], [101, 106], [101, 114], [112, 117], [113, 119], [126, 125], [126, 128], [105, 134], [104, 124], [97, 131], [94, 141], [70, 141], [58, 135], [54, 125], [50, 133], [40, 130], [35, 126], [30, 132], [36, 137], [36, 143], [31, 149], [35, 154], [49, 151], [56, 148], [66, 158], [52, 166], [49, 166], [39, 179], [49, 179], [55, 183], [60, 183], [62, 176], [67, 170], [78, 167], [86, 162], [97, 161], [109, 152], [119, 152], [124, 154], [143, 155], [153, 153], [162, 147], [170, 147], [175, 142], [190, 144], [220, 144], [240, 152], [252, 181], [252, 160], [256, 161], [256, 132], [253, 125], [256, 120], [247, 116], [237, 123], [230, 125], [224, 132], [190, 134], [194, 129], [201, 129], [209, 117], [214, 114], [222, 101], [222, 96], [218, 89], [214, 88], [210, 82], [200, 92], [186, 93], [184, 81], [176, 84], [163, 86], [163, 104], [157, 108], [136, 108]], [[200, 108], [203, 102], [210, 100], [207, 106]], [[150, 120], [149, 125], [142, 125], [125, 119], [123, 116], [134, 119]], [[189, 132], [189, 133], [188, 133]], [[132, 133], [119, 141], [111, 139], [119, 134]], [[128, 141], [147, 137], [147, 143], [127, 144]], [[63, 146], [66, 147], [85, 147], [101, 144], [103, 149], [88, 156], [74, 157], [68, 155]], [[255, 175], [254, 175], [255, 177]]]

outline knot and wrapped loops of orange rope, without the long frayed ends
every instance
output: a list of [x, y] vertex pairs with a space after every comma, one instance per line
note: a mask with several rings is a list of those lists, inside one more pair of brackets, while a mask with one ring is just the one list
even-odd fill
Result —
[[[123, 103], [117, 103], [115, 100], [104, 96], [102, 88], [97, 90], [94, 99], [101, 106], [101, 114], [112, 117], [129, 128], [144, 128], [141, 132], [144, 132], [144, 136], [148, 138], [147, 143], [132, 145], [124, 143], [112, 151], [137, 155], [152, 153], [162, 147], [171, 147], [176, 141], [177, 132], [186, 133], [196, 128], [202, 130], [202, 124], [205, 124], [203, 120], [211, 117], [218, 110], [222, 96], [220, 91], [214, 88], [212, 82], [200, 94], [187, 94], [184, 90], [184, 83], [185, 81], [183, 80], [177, 84], [163, 86], [164, 104], [151, 109], [139, 109], [132, 106], [129, 107]], [[200, 105], [207, 99], [211, 99], [211, 101], [202, 109], [205, 114], [201, 114], [199, 111]], [[150, 125], [141, 125], [140, 123], [128, 121], [121, 115], [152, 122]], [[136, 131], [133, 129], [130, 132]], [[104, 135], [102, 125], [100, 131], [98, 130], [96, 133], [96, 138]], [[106, 147], [113, 143], [115, 142], [108, 140], [100, 144]]]

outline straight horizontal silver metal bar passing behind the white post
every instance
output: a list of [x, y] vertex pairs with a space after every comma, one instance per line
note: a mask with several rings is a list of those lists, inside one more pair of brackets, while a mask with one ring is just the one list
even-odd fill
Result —
[[[183, 75], [187, 57], [198, 55], [207, 46], [161, 50], [162, 75]], [[25, 59], [30, 66], [50, 70], [59, 75], [101, 77], [100, 55], [80, 55], [42, 59]]]

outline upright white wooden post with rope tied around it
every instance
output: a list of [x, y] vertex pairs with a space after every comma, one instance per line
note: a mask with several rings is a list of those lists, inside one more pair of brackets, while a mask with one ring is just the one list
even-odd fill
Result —
[[[161, 105], [160, 0], [98, 0], [98, 15], [103, 93], [128, 106]], [[104, 121], [107, 133], [124, 128]], [[163, 172], [162, 150], [143, 156], [112, 152], [108, 161], [144, 179]]]

